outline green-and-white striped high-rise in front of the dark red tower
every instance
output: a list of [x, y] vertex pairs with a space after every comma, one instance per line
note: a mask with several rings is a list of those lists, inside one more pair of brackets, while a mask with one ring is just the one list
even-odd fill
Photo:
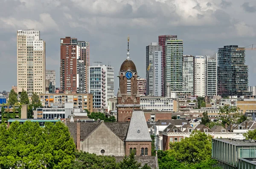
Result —
[[[170, 90], [183, 91], [183, 40], [166, 40], [165, 45], [165, 83]], [[167, 89], [166, 85], [165, 88]], [[166, 91], [167, 93], [167, 91]]]

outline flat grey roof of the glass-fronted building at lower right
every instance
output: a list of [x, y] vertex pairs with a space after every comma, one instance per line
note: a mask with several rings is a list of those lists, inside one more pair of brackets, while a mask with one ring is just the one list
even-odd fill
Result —
[[213, 138], [212, 140], [218, 140], [224, 143], [229, 143], [234, 146], [256, 146], [256, 140], [238, 140], [231, 138]]

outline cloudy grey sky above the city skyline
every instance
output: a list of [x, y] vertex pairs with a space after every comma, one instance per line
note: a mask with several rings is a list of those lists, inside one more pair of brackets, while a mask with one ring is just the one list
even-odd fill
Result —
[[[145, 78], [145, 47], [158, 35], [183, 40], [183, 54], [212, 55], [226, 45], [256, 43], [255, 0], [0, 0], [0, 91], [17, 86], [17, 30], [35, 29], [46, 42], [46, 69], [59, 87], [60, 38], [90, 42], [90, 64], [115, 69], [130, 57]], [[256, 47], [256, 45], [255, 45]], [[256, 50], [246, 51], [249, 85], [256, 85]], [[115, 78], [115, 94], [119, 86]]]

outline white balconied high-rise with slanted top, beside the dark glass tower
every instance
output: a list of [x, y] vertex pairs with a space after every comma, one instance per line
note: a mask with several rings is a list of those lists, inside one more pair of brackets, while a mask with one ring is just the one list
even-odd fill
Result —
[[217, 54], [212, 56], [206, 55], [206, 85], [205, 95], [216, 96], [217, 95]]

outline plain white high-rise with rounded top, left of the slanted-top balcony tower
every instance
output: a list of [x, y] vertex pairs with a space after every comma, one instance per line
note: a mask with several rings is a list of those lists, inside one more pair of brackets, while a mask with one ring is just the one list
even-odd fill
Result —
[[205, 96], [205, 57], [195, 56], [195, 96]]

